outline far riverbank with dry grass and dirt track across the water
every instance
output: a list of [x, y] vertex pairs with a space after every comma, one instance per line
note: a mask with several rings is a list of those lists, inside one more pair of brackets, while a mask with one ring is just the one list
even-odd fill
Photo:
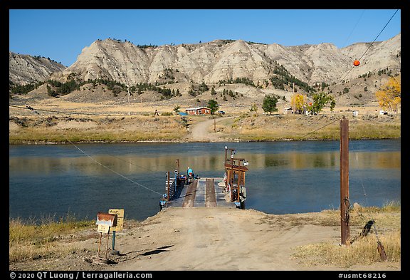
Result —
[[[9, 144], [68, 142], [251, 142], [338, 140], [342, 113], [228, 116], [130, 115], [84, 117], [10, 112]], [[349, 138], [401, 138], [401, 115], [349, 119]]]

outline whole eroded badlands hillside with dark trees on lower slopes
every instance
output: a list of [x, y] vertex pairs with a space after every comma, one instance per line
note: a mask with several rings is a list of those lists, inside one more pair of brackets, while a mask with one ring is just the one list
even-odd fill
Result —
[[[354, 67], [353, 61], [364, 53], [360, 66]], [[374, 93], [400, 72], [400, 33], [387, 41], [345, 48], [242, 40], [136, 46], [108, 38], [83, 48], [68, 68], [46, 58], [10, 53], [9, 81], [14, 103], [57, 97], [76, 103], [159, 102], [174, 108], [214, 99], [220, 105], [249, 108], [273, 94], [280, 100], [278, 108], [285, 108], [293, 92], [310, 98], [324, 91], [337, 106], [377, 106]], [[35, 81], [42, 82], [34, 85]], [[31, 88], [16, 88], [27, 83]]]

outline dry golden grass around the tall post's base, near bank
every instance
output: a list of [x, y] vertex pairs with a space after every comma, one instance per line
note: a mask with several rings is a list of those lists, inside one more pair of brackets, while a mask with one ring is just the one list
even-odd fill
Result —
[[[325, 210], [320, 213], [320, 224], [340, 225], [340, 210]], [[375, 223], [366, 237], [359, 237], [364, 224], [370, 219]], [[374, 230], [376, 228], [377, 230]], [[330, 264], [343, 267], [369, 265], [381, 261], [377, 242], [382, 242], [387, 262], [401, 259], [401, 209], [399, 202], [389, 202], [384, 207], [356, 207], [350, 212], [349, 246], [340, 246], [340, 240], [308, 244], [295, 248], [295, 258], [306, 265]]]

